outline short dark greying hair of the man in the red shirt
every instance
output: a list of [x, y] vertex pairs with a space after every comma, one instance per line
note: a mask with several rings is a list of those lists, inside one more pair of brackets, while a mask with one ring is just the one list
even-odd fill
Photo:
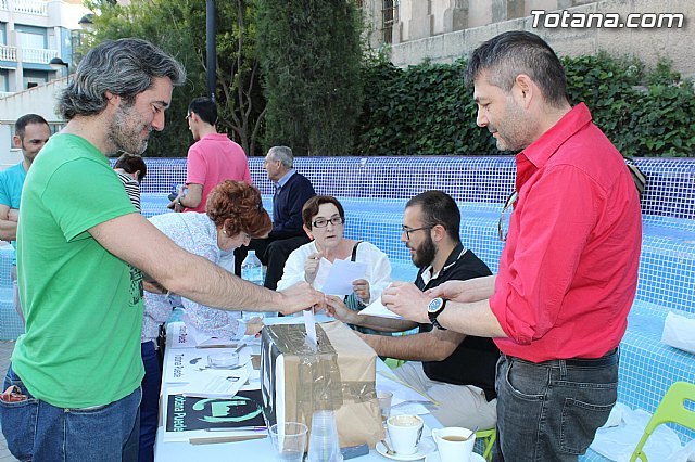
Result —
[[559, 107], [568, 101], [563, 63], [535, 34], [510, 30], [478, 47], [468, 60], [466, 81], [472, 84], [482, 73], [489, 84], [505, 92], [511, 90], [519, 74], [527, 74], [548, 104]]

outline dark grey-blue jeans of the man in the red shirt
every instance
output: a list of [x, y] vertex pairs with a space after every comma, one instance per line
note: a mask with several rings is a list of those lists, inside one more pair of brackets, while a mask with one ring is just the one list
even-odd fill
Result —
[[592, 359], [497, 362], [500, 461], [577, 461], [616, 403], [618, 351]]

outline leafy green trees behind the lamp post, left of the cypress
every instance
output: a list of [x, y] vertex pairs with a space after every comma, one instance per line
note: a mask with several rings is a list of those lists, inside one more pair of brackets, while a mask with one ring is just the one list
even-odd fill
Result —
[[[146, 155], [186, 156], [192, 142], [185, 116], [192, 98], [207, 94], [205, 68], [205, 2], [195, 0], [132, 0], [88, 4], [99, 11], [93, 20], [90, 48], [106, 39], [140, 37], [176, 56], [188, 81], [174, 90], [167, 127], [151, 137]], [[216, 1], [217, 129], [227, 132], [252, 155], [261, 136], [263, 106], [258, 61], [255, 56], [255, 1]]]

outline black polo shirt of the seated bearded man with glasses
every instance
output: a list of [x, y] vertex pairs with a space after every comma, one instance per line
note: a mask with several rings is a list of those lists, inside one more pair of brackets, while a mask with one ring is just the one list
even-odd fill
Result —
[[[420, 291], [437, 287], [446, 281], [464, 281], [467, 279], [491, 275], [490, 268], [471, 251], [464, 252], [458, 244], [452, 252], [437, 279], [427, 284], [420, 275], [426, 268], [420, 268], [415, 285]], [[432, 324], [419, 324], [420, 332], [429, 332]], [[500, 350], [492, 338], [467, 335], [454, 352], [443, 361], [422, 361], [425, 374], [432, 381], [454, 385], [475, 385], [482, 388], [488, 401], [496, 397], [495, 368]]]

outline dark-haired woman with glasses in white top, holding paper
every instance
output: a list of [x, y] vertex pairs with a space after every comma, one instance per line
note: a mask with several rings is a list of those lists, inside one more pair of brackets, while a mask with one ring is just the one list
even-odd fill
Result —
[[343, 236], [345, 210], [336, 197], [317, 195], [306, 201], [302, 220], [312, 242], [290, 254], [278, 290], [302, 281], [320, 290], [328, 274], [325, 267], [341, 259], [367, 265], [366, 277], [352, 282], [353, 293], [345, 300], [351, 309], [359, 310], [381, 296], [391, 283], [389, 257], [374, 244]]

